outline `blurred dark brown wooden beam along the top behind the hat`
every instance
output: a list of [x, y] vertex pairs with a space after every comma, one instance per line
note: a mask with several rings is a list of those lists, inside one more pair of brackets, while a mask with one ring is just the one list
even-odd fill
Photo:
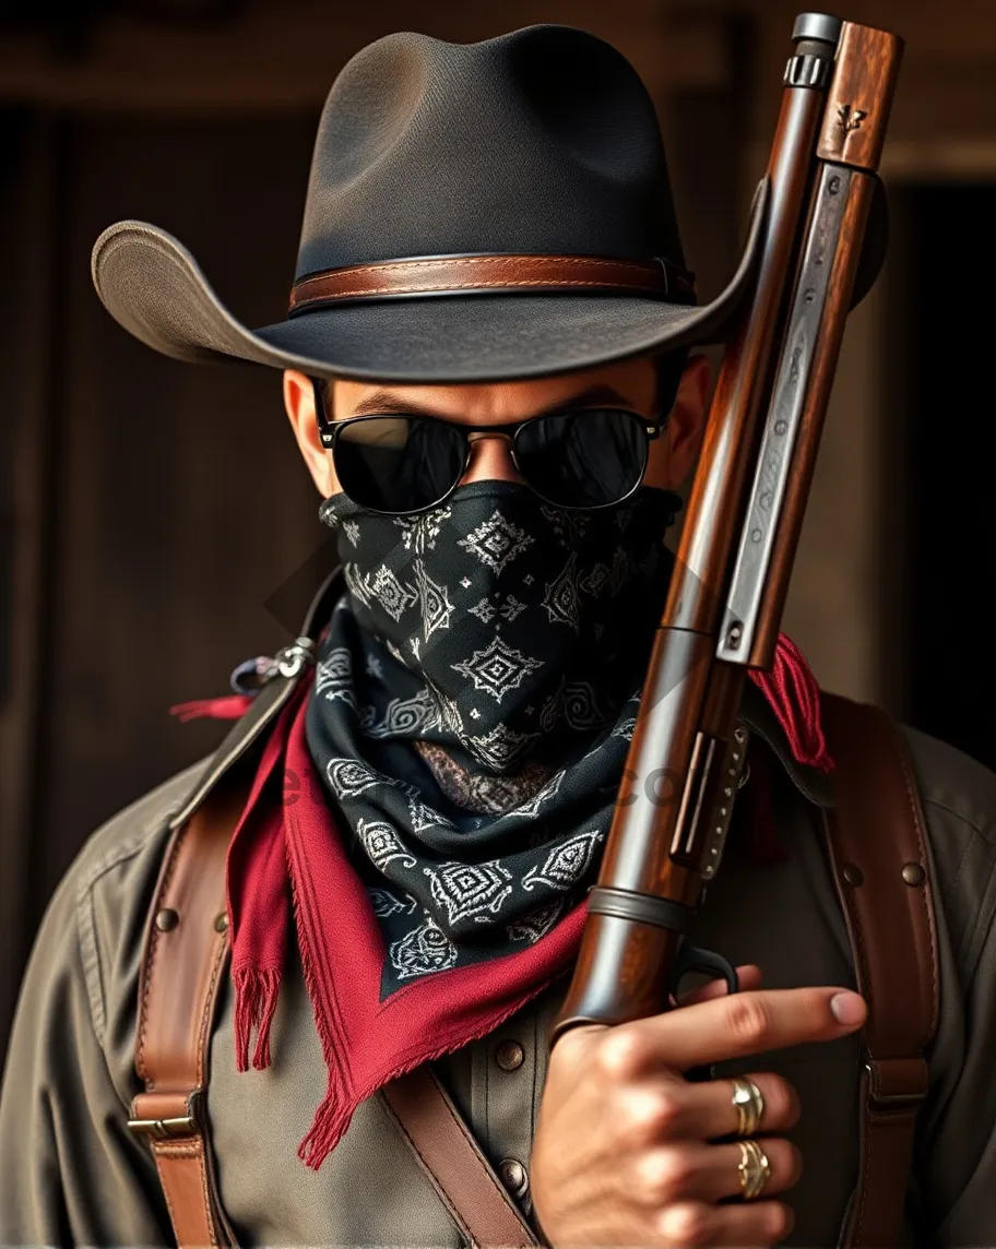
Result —
[[255, 0], [217, 25], [117, 16], [95, 29], [79, 60], [59, 59], [37, 34], [0, 41], [0, 100], [95, 111], [312, 110], [349, 57], [391, 31], [472, 42], [537, 20], [607, 39], [655, 92], [715, 84], [725, 72], [722, 49], [706, 27], [662, 41], [665, 9], [661, 0]]

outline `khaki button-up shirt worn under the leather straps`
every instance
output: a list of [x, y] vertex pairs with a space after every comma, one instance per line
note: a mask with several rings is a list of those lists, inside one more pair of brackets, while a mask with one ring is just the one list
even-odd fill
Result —
[[[829, 787], [791, 763], [760, 699], [747, 718], [780, 761], [771, 768], [774, 803], [789, 857], [761, 868], [731, 847], [692, 939], [734, 963], [759, 963], [769, 987], [852, 985], [820, 833]], [[922, 734], [909, 739], [935, 864], [941, 1020], [910, 1177], [906, 1242], [992, 1245], [996, 777]], [[196, 776], [189, 769], [175, 777], [97, 831], [49, 906], [0, 1100], [1, 1244], [171, 1240], [151, 1155], [126, 1120], [139, 1092], [135, 1000], [147, 911], [166, 822]], [[501, 1173], [520, 1180], [514, 1187], [526, 1209], [546, 1033], [564, 988], [439, 1064], [485, 1153], [496, 1165], [521, 1164]], [[377, 1097], [359, 1108], [317, 1173], [297, 1159], [326, 1083], [297, 965], [285, 975], [272, 1042], [271, 1068], [236, 1072], [226, 993], [211, 1044], [207, 1108], [221, 1199], [240, 1243], [459, 1245], [459, 1232]], [[857, 1174], [859, 1040], [725, 1064], [720, 1074], [760, 1068], [790, 1079], [802, 1104], [791, 1135], [805, 1173], [789, 1195], [797, 1215], [790, 1243], [835, 1245]]]

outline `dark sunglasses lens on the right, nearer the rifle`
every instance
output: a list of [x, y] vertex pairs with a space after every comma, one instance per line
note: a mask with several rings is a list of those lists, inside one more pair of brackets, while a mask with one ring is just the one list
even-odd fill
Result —
[[515, 440], [519, 471], [560, 507], [605, 507], [640, 485], [647, 458], [644, 421], [634, 412], [592, 408], [542, 416]]

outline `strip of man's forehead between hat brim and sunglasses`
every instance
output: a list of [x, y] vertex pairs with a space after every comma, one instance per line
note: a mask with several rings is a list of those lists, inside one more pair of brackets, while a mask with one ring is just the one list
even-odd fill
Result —
[[654, 362], [644, 357], [530, 381], [402, 386], [337, 380], [335, 416], [424, 411], [467, 421], [516, 420], [571, 402], [641, 410], [652, 402], [654, 393]]

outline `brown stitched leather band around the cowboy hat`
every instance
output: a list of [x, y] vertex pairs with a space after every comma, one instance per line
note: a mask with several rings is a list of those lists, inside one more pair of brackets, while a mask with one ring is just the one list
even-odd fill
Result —
[[496, 291], [601, 291], [695, 302], [695, 276], [667, 260], [601, 256], [427, 256], [310, 274], [290, 292], [290, 315], [346, 300]]

